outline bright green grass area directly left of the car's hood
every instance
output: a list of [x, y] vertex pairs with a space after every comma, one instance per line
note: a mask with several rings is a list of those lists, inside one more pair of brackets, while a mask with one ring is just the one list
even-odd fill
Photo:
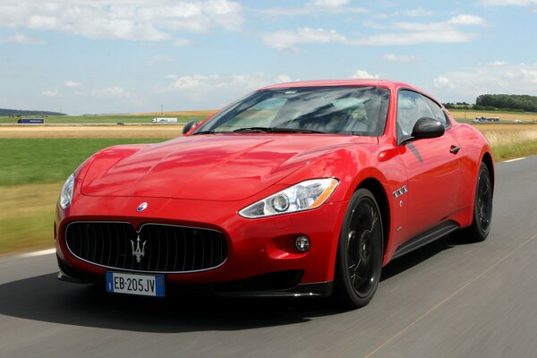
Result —
[[63, 182], [86, 158], [115, 144], [163, 140], [140, 138], [0, 139], [0, 186]]

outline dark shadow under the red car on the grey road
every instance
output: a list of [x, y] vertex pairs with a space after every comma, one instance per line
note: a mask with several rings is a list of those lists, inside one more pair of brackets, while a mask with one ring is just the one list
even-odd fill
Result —
[[[447, 236], [394, 260], [383, 269], [381, 281], [396, 277], [455, 244]], [[361, 313], [379, 309], [371, 306], [374, 305], [352, 313], [359, 320]], [[0, 314], [83, 327], [179, 333], [289, 325], [348, 312], [337, 308], [329, 299], [224, 298], [194, 294], [154, 299], [107, 294], [103, 287], [58, 281], [53, 273], [1, 285]]]

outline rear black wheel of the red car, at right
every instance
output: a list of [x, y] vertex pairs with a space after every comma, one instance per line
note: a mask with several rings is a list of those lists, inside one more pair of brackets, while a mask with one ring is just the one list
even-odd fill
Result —
[[484, 163], [479, 168], [475, 197], [473, 199], [472, 225], [457, 231], [459, 241], [478, 243], [484, 241], [490, 233], [492, 220], [492, 180], [489, 168]]

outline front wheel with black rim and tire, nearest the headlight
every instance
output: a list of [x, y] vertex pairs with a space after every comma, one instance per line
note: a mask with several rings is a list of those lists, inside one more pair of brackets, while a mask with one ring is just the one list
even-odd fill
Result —
[[354, 192], [337, 245], [334, 297], [345, 308], [365, 306], [379, 286], [383, 257], [382, 217], [367, 189]]

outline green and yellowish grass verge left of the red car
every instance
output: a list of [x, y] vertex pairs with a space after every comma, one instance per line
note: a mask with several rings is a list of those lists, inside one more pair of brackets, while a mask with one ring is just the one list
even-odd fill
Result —
[[0, 139], [0, 255], [53, 246], [55, 202], [65, 179], [99, 149], [154, 138]]

